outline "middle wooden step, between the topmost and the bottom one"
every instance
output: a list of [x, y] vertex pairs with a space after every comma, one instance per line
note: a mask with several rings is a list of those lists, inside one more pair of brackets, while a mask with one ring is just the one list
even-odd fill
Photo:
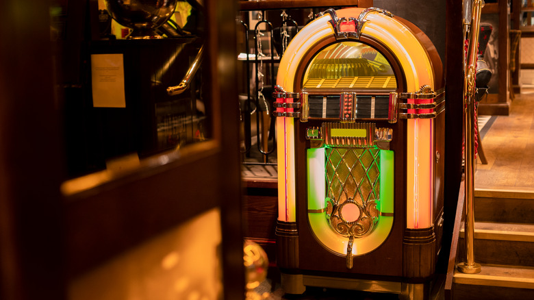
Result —
[[[464, 230], [460, 231], [459, 257], [465, 258]], [[474, 223], [474, 259], [483, 264], [534, 267], [534, 225]]]

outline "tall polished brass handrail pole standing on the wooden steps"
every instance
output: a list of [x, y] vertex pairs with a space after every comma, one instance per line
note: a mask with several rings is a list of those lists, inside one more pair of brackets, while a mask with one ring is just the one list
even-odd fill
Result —
[[478, 52], [478, 41], [480, 31], [480, 16], [484, 5], [483, 0], [474, 0], [472, 4], [471, 28], [469, 34], [469, 44], [467, 53], [466, 78], [463, 83], [464, 90], [464, 112], [463, 123], [465, 126], [464, 136], [464, 155], [465, 155], [465, 173], [466, 173], [466, 221], [465, 221], [465, 240], [466, 240], [466, 262], [458, 264], [458, 269], [462, 273], [474, 274], [480, 273], [481, 265], [474, 262], [474, 94], [475, 75], [476, 75], [476, 55]]

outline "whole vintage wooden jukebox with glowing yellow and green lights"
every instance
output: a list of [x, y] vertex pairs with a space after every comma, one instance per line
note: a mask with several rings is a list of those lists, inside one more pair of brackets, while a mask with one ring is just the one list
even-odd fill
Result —
[[418, 299], [442, 236], [444, 79], [415, 25], [327, 10], [294, 37], [277, 90], [277, 264], [305, 286]]

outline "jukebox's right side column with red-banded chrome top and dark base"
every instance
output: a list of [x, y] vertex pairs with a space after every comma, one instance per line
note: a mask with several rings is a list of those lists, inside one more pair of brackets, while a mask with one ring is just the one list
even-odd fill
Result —
[[435, 271], [434, 126], [444, 108], [444, 92], [422, 86], [418, 92], [401, 93], [399, 118], [407, 119], [407, 201], [403, 239], [403, 272], [416, 281]]

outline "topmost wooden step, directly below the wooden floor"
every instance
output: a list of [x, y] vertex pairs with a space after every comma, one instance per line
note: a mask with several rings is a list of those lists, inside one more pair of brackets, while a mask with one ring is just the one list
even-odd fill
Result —
[[483, 222], [534, 224], [534, 188], [475, 188], [474, 218]]

